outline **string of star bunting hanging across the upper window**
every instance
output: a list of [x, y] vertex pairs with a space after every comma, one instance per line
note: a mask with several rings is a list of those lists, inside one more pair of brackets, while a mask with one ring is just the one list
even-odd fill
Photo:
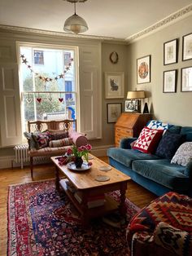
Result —
[[34, 72], [32, 65], [28, 64], [28, 60], [27, 58], [25, 58], [24, 55], [20, 55], [20, 58], [22, 60], [22, 63], [24, 63], [27, 66], [27, 68], [31, 71], [31, 73], [35, 73], [36, 77], [38, 77], [43, 82], [52, 82], [53, 80], [57, 81], [58, 79], [64, 78], [65, 73], [67, 73], [68, 70], [71, 68], [72, 61], [73, 61], [73, 58], [71, 58], [69, 64], [65, 67], [65, 69], [63, 70], [63, 73], [61, 73], [60, 75], [56, 77], [44, 77], [40, 73]]

